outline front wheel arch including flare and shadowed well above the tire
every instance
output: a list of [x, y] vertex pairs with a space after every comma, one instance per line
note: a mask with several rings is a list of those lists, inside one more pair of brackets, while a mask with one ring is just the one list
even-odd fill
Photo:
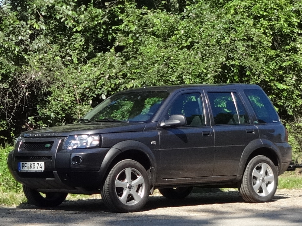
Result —
[[126, 140], [119, 142], [112, 146], [112, 148], [106, 154], [100, 168], [100, 172], [103, 172], [103, 178], [101, 186], [104, 184], [111, 168], [124, 159], [132, 159], [139, 162], [146, 169], [149, 181], [150, 188], [154, 187], [155, 178], [156, 178], [156, 160], [151, 149], [145, 144], [135, 141], [135, 140]]

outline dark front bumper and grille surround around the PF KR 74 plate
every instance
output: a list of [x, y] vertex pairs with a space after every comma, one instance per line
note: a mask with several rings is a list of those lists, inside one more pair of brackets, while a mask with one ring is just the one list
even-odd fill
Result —
[[[18, 182], [40, 192], [99, 193], [105, 172], [101, 164], [109, 148], [62, 150], [64, 138], [24, 138], [8, 155], [8, 168]], [[27, 150], [24, 143], [51, 143], [50, 150]], [[71, 163], [80, 156], [79, 165]], [[18, 162], [43, 161], [43, 172], [20, 172]]]

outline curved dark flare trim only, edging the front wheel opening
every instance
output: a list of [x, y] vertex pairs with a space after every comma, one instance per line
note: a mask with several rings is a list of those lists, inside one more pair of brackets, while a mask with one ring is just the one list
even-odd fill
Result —
[[150, 161], [150, 168], [151, 168], [151, 174], [152, 174], [152, 177], [151, 177], [151, 180], [150, 184], [153, 185], [154, 187], [154, 183], [155, 183], [155, 178], [156, 178], [156, 160], [155, 160], [155, 156], [153, 154], [153, 152], [151, 151], [151, 149], [146, 146], [145, 144], [139, 142], [139, 141], [136, 141], [136, 140], [124, 140], [124, 141], [121, 141], [119, 143], [116, 143], [114, 146], [112, 146], [109, 151], [107, 152], [107, 154], [105, 155], [104, 157], [104, 160], [101, 164], [101, 167], [100, 167], [100, 172], [101, 172], [101, 177], [102, 177], [102, 180], [104, 179], [104, 176], [105, 176], [105, 172], [108, 170], [110, 164], [112, 163], [112, 161], [119, 155], [121, 154], [122, 152], [125, 152], [125, 151], [128, 151], [128, 150], [137, 150], [137, 151], [140, 151], [140, 152], [143, 152], [148, 158], [149, 158], [149, 161]]

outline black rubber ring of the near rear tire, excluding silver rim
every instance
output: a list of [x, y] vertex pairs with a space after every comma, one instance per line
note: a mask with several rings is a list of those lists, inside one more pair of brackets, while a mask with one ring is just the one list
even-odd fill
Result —
[[[271, 193], [268, 194], [268, 196], [265, 196], [265, 197], [259, 196], [255, 192], [255, 190], [254, 190], [254, 188], [252, 186], [252, 173], [253, 173], [253, 170], [260, 163], [266, 163], [266, 164], [268, 164], [271, 167], [271, 170], [272, 170], [272, 172], [274, 174], [274, 188], [271, 191]], [[247, 187], [248, 187], [248, 190], [250, 191], [250, 193], [252, 195], [251, 198], [255, 202], [268, 202], [268, 201], [270, 201], [273, 198], [273, 196], [275, 195], [275, 192], [277, 190], [277, 187], [278, 187], [278, 174], [277, 174], [276, 166], [273, 164], [273, 162], [270, 159], [268, 159], [268, 157], [266, 157], [264, 155], [255, 156], [250, 161], [249, 165], [247, 166], [245, 174], [247, 174], [247, 180], [248, 180]]]

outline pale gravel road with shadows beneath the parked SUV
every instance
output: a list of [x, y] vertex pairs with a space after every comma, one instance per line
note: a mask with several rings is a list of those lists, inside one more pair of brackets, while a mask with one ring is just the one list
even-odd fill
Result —
[[0, 207], [5, 226], [301, 226], [302, 190], [277, 190], [272, 202], [246, 203], [237, 191], [193, 193], [180, 201], [150, 196], [136, 213], [110, 213], [100, 199], [65, 201], [51, 209]]

